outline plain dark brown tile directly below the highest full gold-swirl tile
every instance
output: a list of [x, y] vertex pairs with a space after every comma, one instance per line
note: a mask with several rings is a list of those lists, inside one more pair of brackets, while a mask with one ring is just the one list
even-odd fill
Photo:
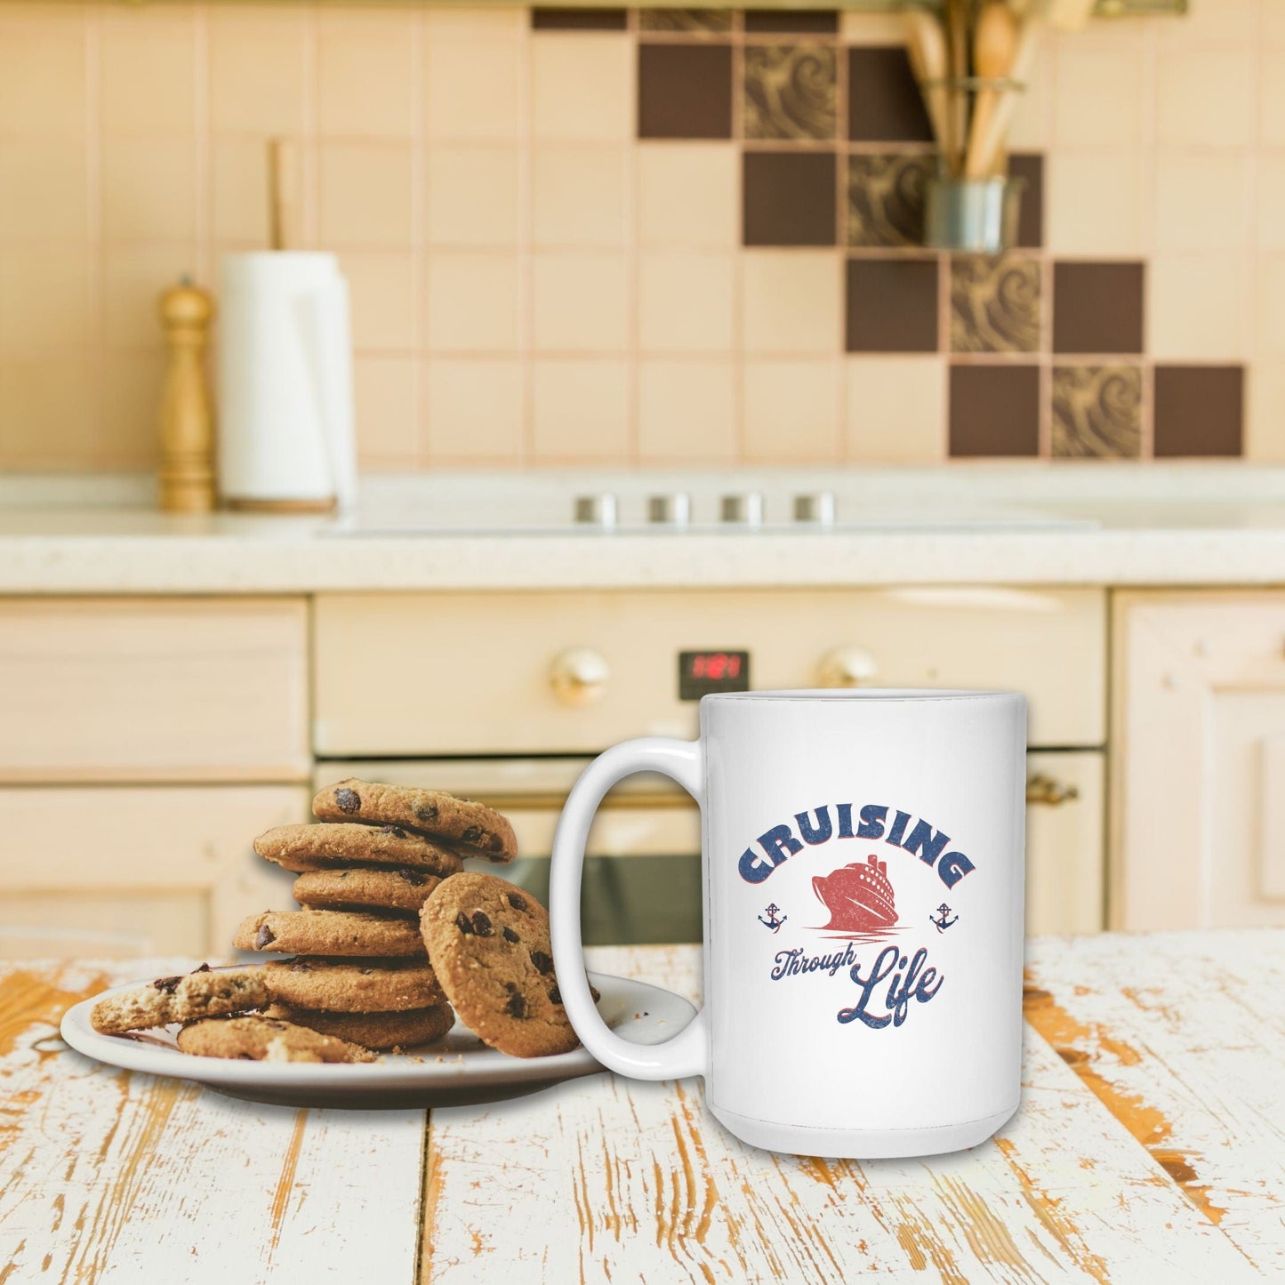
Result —
[[747, 152], [747, 245], [834, 245], [837, 164], [831, 152]]

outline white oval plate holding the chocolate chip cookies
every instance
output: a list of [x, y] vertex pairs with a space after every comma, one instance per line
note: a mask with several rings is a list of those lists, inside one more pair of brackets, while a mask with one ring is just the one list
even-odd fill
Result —
[[[695, 1015], [686, 1000], [645, 982], [590, 973], [601, 991], [598, 1011], [623, 1040], [663, 1043]], [[148, 978], [146, 980], [150, 980]], [[130, 991], [146, 982], [118, 986], [104, 995]], [[239, 1061], [179, 1052], [177, 1027], [139, 1036], [100, 1036], [89, 1014], [102, 995], [63, 1015], [62, 1034], [77, 1052], [126, 1070], [173, 1076], [208, 1085], [234, 1097], [290, 1106], [459, 1106], [465, 1103], [519, 1097], [603, 1067], [583, 1049], [551, 1058], [510, 1058], [488, 1049], [466, 1027], [455, 1028], [434, 1045], [405, 1054], [384, 1054], [374, 1063]]]

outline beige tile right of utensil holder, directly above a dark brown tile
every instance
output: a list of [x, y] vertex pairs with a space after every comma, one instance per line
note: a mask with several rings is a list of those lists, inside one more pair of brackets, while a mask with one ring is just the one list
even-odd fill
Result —
[[1142, 252], [1142, 190], [1135, 152], [1045, 157], [1045, 226], [1055, 254]]

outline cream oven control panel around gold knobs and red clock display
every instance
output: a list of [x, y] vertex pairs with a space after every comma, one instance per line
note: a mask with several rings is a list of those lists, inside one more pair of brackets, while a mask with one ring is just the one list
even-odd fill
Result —
[[[879, 686], [1004, 687], [1036, 745], [1104, 740], [1105, 596], [1095, 590], [321, 595], [315, 744], [328, 756], [598, 750], [690, 736], [678, 653], [744, 650], [750, 686], [810, 687], [857, 651]], [[608, 676], [568, 703], [560, 655]]]

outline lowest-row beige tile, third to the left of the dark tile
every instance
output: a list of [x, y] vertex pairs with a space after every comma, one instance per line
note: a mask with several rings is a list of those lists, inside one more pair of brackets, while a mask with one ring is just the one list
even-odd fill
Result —
[[735, 463], [735, 389], [730, 361], [640, 362], [640, 463]]

